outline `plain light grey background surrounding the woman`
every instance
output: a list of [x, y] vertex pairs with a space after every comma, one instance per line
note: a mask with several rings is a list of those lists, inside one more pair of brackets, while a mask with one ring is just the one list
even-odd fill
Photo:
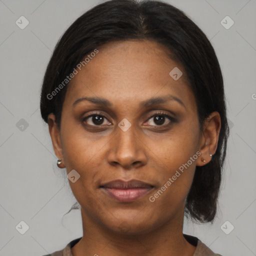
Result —
[[[66, 214], [61, 223], [75, 198], [62, 178], [65, 169], [55, 165], [39, 91], [60, 35], [98, 2], [0, 0], [1, 256], [47, 254], [82, 235], [80, 210]], [[185, 220], [184, 233], [224, 256], [256, 255], [256, 0], [167, 2], [210, 39], [223, 72], [231, 125], [217, 219], [212, 225]], [[15, 23], [21, 15], [29, 21], [24, 29]], [[226, 15], [234, 21], [229, 29], [220, 22]], [[29, 226], [24, 234], [15, 228], [21, 220]], [[226, 220], [234, 226], [229, 234], [220, 228]]]

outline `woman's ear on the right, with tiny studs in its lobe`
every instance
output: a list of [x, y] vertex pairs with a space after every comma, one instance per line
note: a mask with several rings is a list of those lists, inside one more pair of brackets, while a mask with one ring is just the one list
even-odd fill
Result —
[[[219, 113], [217, 111], [211, 112], [203, 123], [203, 132], [199, 143], [201, 155], [196, 161], [197, 166], [205, 165], [211, 160], [210, 154], [213, 155], [217, 149], [220, 126], [221, 121]], [[203, 158], [205, 162], [203, 162], [201, 158]]]

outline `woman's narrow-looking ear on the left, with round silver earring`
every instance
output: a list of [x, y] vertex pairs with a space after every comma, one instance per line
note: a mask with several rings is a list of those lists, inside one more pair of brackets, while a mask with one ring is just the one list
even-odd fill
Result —
[[49, 133], [51, 137], [52, 146], [55, 152], [55, 155], [57, 158], [61, 159], [60, 168], [65, 167], [64, 158], [63, 158], [63, 151], [62, 151], [62, 145], [61, 145], [61, 139], [60, 139], [60, 130], [57, 127], [57, 124], [55, 122], [55, 115], [53, 113], [50, 113], [48, 115], [47, 119], [48, 127], [49, 127]]

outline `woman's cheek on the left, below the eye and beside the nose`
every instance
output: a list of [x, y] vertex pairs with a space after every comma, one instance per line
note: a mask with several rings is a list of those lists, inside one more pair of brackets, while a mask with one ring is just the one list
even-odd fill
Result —
[[[72, 130], [70, 132], [70, 130]], [[69, 182], [73, 189], [80, 187], [81, 191], [93, 189], [97, 180], [96, 176], [102, 172], [105, 148], [109, 138], [102, 136], [95, 139], [91, 134], [85, 133], [81, 128], [74, 125], [66, 126], [62, 130], [62, 149], [67, 174], [74, 169], [80, 175], [75, 183]], [[103, 164], [103, 166], [102, 166]], [[84, 187], [84, 189], [82, 188]], [[86, 189], [85, 189], [86, 188]], [[76, 191], [79, 193], [79, 191]]]

